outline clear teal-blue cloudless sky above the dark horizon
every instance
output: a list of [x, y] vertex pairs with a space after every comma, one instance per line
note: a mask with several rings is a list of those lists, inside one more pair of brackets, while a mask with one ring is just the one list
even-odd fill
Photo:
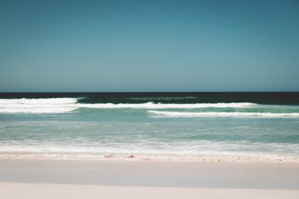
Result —
[[0, 92], [299, 91], [298, 0], [2, 0]]

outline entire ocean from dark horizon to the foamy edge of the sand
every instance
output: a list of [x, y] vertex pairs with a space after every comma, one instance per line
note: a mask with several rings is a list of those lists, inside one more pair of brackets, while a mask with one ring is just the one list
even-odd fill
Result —
[[299, 162], [299, 92], [0, 93], [0, 158]]

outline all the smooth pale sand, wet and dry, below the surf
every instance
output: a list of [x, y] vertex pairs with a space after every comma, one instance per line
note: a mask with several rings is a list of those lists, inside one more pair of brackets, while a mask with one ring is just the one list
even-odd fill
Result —
[[299, 199], [298, 163], [0, 160], [0, 199]]

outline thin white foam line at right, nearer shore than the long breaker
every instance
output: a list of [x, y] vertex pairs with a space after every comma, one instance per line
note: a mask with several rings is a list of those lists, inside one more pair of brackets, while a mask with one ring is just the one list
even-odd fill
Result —
[[178, 111], [157, 111], [148, 110], [149, 113], [171, 116], [171, 117], [238, 117], [238, 116], [262, 116], [262, 117], [285, 117], [295, 116], [298, 117], [299, 113], [271, 113], [271, 112], [178, 112]]

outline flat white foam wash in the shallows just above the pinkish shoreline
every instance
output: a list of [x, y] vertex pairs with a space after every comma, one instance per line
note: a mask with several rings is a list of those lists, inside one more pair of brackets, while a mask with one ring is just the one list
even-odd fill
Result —
[[[49, 141], [50, 142], [50, 141]], [[144, 142], [142, 145], [132, 143], [105, 145], [93, 143], [65, 143], [57, 144], [55, 142], [44, 144], [40, 143], [1, 143], [0, 153], [86, 153], [86, 154], [105, 154], [105, 153], [135, 153], [135, 154], [176, 154], [176, 155], [202, 155], [202, 154], [225, 154], [225, 155], [242, 155], [252, 154], [285, 154], [292, 155], [292, 151], [299, 150], [299, 144], [278, 144], [278, 143], [251, 143], [247, 142], [213, 142], [207, 140], [180, 142], [180, 143], [163, 143], [159, 147]], [[237, 151], [235, 149], [238, 149]], [[262, 149], [262, 150], [261, 150]], [[297, 154], [297, 153], [294, 153]], [[293, 155], [294, 155], [293, 154]]]

